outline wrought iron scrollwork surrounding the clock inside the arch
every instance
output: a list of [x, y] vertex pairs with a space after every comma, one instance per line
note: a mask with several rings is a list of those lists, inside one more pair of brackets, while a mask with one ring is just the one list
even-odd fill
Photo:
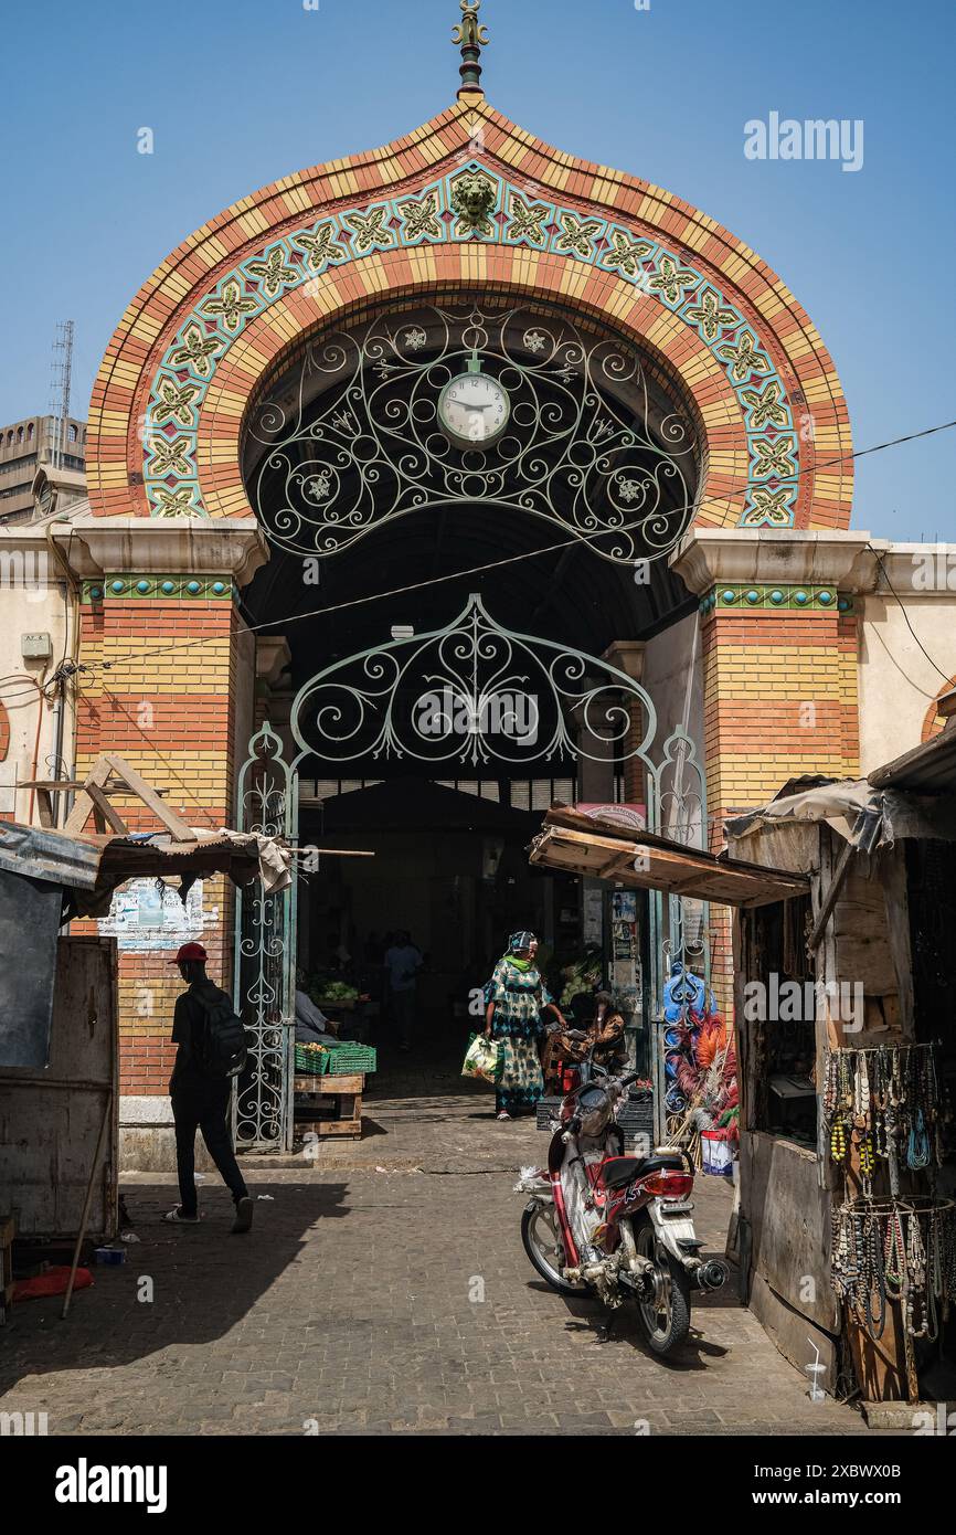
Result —
[[[480, 358], [511, 398], [486, 450], [442, 431]], [[382, 523], [482, 503], [559, 523], [609, 560], [658, 559], [694, 516], [691, 421], [641, 355], [543, 305], [390, 310], [310, 342], [250, 416], [250, 499], [273, 543], [331, 556]]]

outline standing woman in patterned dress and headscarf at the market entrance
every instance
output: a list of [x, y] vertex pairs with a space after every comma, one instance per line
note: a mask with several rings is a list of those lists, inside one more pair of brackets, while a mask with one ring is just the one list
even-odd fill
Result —
[[549, 996], [536, 962], [534, 933], [513, 933], [508, 953], [494, 967], [485, 987], [485, 1033], [497, 1039], [505, 1065], [496, 1091], [499, 1119], [529, 1111], [545, 1091], [539, 1041], [545, 1035], [543, 1012], [552, 1012], [562, 1027], [565, 1019]]

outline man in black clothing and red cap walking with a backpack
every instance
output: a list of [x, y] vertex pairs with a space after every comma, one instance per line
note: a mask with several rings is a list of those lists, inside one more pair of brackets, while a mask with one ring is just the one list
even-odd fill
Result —
[[252, 1199], [239, 1173], [227, 1125], [232, 1082], [226, 1076], [209, 1076], [199, 1064], [201, 1030], [207, 1027], [207, 1008], [223, 1001], [229, 1004], [226, 992], [219, 990], [206, 975], [206, 959], [203, 944], [183, 944], [176, 958], [170, 961], [170, 964], [180, 966], [180, 975], [189, 990], [176, 998], [172, 1042], [180, 1048], [169, 1079], [169, 1096], [176, 1125], [180, 1203], [163, 1219], [172, 1225], [195, 1225], [199, 1219], [195, 1153], [196, 1130], [201, 1130], [206, 1150], [216, 1164], [236, 1205], [232, 1230], [244, 1233], [252, 1226]]

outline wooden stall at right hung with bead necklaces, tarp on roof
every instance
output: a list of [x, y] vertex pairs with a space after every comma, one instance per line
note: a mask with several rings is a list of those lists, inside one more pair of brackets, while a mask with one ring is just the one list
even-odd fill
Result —
[[869, 780], [789, 784], [727, 837], [810, 886], [735, 916], [749, 1303], [835, 1394], [944, 1394], [956, 729]]

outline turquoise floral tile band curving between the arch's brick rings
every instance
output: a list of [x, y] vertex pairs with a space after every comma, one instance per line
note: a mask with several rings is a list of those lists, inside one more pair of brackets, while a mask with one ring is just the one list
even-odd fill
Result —
[[331, 267], [379, 250], [470, 239], [583, 261], [677, 315], [720, 362], [740, 402], [750, 450], [741, 527], [793, 527], [799, 442], [790, 402], [740, 309], [687, 255], [625, 224], [551, 203], [534, 183], [506, 183], [479, 160], [459, 164], [420, 192], [347, 209], [272, 241], [196, 302], [163, 358], [141, 424], [152, 514], [207, 514], [198, 488], [198, 421], [216, 368], [252, 319], [285, 293], [308, 293], [308, 284]]

